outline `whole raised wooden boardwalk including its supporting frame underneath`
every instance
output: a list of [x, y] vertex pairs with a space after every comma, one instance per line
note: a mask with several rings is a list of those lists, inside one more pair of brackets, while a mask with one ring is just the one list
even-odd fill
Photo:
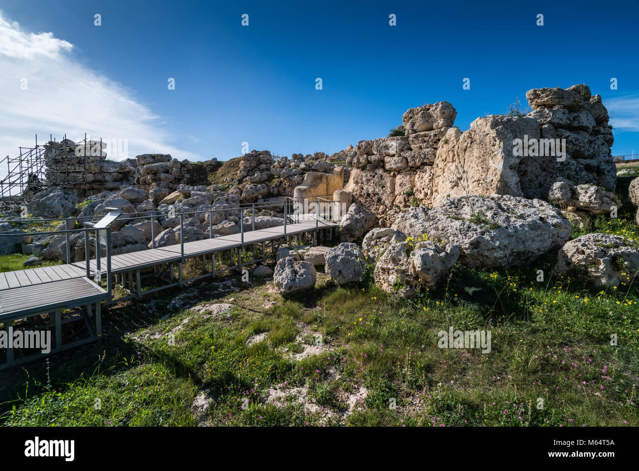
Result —
[[[224, 235], [201, 241], [113, 255], [110, 260], [111, 273], [107, 277], [108, 291], [89, 279], [102, 272], [100, 284], [102, 283], [102, 276], [107, 274], [107, 257], [100, 258], [99, 271], [96, 260], [90, 260], [88, 273], [86, 262], [73, 262], [0, 273], [0, 323], [4, 325], [8, 338], [11, 337], [13, 324], [16, 322], [22, 326], [20, 328], [50, 329], [55, 334], [55, 347], [51, 348], [48, 353], [29, 353], [30, 351], [14, 349], [12, 346], [8, 347], [6, 353], [4, 353], [4, 358], [0, 358], [0, 369], [43, 358], [50, 353], [56, 353], [99, 339], [102, 335], [102, 303], [115, 302], [111, 299], [112, 276], [115, 277], [116, 282], [119, 278], [121, 286], [129, 293], [129, 296], [118, 298], [117, 301], [135, 296], [142, 298], [142, 294], [176, 285], [182, 286], [182, 262], [186, 259], [202, 257], [203, 271], [206, 271], [206, 255], [210, 255], [211, 270], [206, 275], [191, 278], [191, 280], [197, 280], [204, 276], [215, 276], [217, 273], [227, 269], [236, 269], [259, 261], [256, 260], [256, 246], [258, 244], [262, 244], [261, 255], [263, 258], [260, 260], [265, 260], [265, 244], [269, 241], [271, 242], [271, 252], [274, 255], [276, 248], [289, 237], [312, 233], [312, 239], [316, 241], [316, 236], [318, 235], [316, 230], [323, 231], [337, 227], [337, 224], [321, 219], [317, 221], [307, 217], [300, 219], [300, 222], [287, 224], [286, 227], [282, 225], [250, 230], [243, 232], [243, 234]], [[286, 233], [284, 232], [285, 230]], [[240, 257], [240, 249], [250, 246], [253, 249], [253, 260], [243, 262]], [[229, 251], [229, 257], [227, 258], [231, 266], [226, 269], [222, 266], [222, 270], [216, 271], [215, 253], [224, 251]], [[237, 264], [235, 264], [233, 258], [234, 252], [236, 252], [238, 260]], [[223, 258], [220, 255], [220, 261]], [[178, 282], [174, 282], [173, 264], [175, 263], [178, 264]], [[159, 271], [157, 267], [160, 267]], [[141, 270], [150, 271], [148, 270], [149, 268], [152, 268], [151, 271], [153, 271], [149, 276], [157, 278], [162, 278], [162, 274], [166, 276], [168, 272], [170, 277], [169, 284], [143, 292]], [[97, 281], [98, 277], [95, 276], [95, 278]], [[76, 338], [76, 336], [71, 341], [65, 341], [62, 331], [63, 324], [77, 321], [84, 321], [87, 335], [84, 338]], [[21, 356], [16, 357], [16, 354]]]

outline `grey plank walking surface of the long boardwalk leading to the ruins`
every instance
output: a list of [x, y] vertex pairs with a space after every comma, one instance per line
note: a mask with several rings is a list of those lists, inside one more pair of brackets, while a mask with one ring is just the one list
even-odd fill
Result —
[[[303, 234], [315, 230], [315, 220], [305, 220], [300, 223], [286, 225], [286, 235], [284, 226], [271, 227], [266, 229], [251, 230], [244, 232], [244, 246], [258, 244], [266, 241], [283, 239], [289, 235]], [[337, 224], [319, 220], [319, 229], [335, 228]], [[208, 255], [218, 251], [232, 250], [242, 247], [242, 234], [223, 235], [212, 239], [184, 243], [184, 258], [190, 259], [201, 255]], [[166, 247], [140, 250], [111, 257], [111, 274], [118, 275], [142, 268], [153, 267], [160, 264], [180, 262], [180, 244]], [[107, 259], [100, 259], [100, 268], [104, 274], [106, 271]], [[93, 277], [97, 273], [96, 260], [90, 262], [89, 276]], [[58, 282], [60, 280], [70, 280], [73, 278], [86, 277], [86, 264], [84, 262], [73, 262], [71, 264], [54, 265], [49, 267], [38, 267], [19, 271], [8, 271], [0, 273], [0, 300], [8, 295], [8, 290], [20, 287], [34, 287], [33, 293], [39, 292], [36, 285], [43, 283]], [[53, 289], [54, 285], [51, 285]], [[29, 296], [29, 291], [24, 291], [23, 296]]]

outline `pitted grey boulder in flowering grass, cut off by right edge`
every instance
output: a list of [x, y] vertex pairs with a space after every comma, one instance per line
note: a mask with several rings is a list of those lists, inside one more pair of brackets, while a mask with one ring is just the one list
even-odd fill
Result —
[[597, 286], [629, 285], [639, 271], [639, 248], [631, 244], [619, 235], [580, 235], [559, 250], [555, 270], [567, 276], [585, 269]]

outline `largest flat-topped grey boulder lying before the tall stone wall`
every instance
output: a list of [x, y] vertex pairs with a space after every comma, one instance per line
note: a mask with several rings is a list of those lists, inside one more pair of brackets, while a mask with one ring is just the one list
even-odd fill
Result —
[[458, 246], [466, 266], [527, 266], [562, 246], [571, 225], [559, 210], [541, 200], [511, 195], [449, 198], [433, 209], [412, 207], [392, 228], [417, 239]]

